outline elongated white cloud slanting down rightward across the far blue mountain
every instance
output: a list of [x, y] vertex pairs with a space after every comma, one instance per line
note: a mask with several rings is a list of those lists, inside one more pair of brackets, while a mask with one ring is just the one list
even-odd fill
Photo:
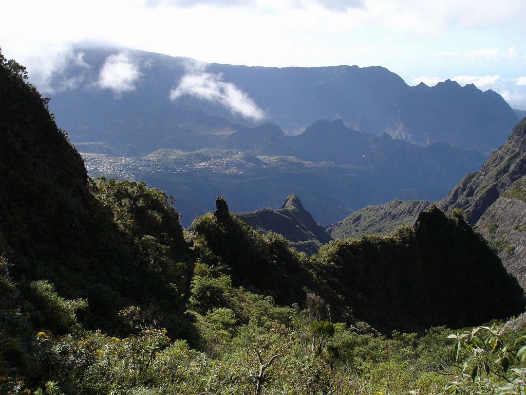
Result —
[[250, 96], [236, 85], [225, 82], [220, 74], [189, 73], [183, 76], [176, 88], [171, 90], [171, 100], [183, 95], [191, 95], [211, 102], [219, 103], [232, 113], [246, 119], [261, 121], [265, 117]]

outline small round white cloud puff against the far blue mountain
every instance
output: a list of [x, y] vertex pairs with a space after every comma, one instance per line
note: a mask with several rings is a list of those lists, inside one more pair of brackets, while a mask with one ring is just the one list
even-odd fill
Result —
[[135, 91], [141, 73], [139, 67], [124, 52], [110, 55], [100, 69], [98, 86], [110, 89], [116, 97], [123, 92]]

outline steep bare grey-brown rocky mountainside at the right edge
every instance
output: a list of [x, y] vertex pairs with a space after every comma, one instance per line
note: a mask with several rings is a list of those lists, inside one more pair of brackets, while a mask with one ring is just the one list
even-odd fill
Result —
[[[445, 197], [445, 210], [463, 209], [467, 220], [498, 252], [509, 273], [526, 287], [526, 202], [510, 191], [526, 177], [526, 118], [477, 172]], [[519, 189], [522, 187], [517, 186]], [[520, 194], [519, 194], [520, 197]]]

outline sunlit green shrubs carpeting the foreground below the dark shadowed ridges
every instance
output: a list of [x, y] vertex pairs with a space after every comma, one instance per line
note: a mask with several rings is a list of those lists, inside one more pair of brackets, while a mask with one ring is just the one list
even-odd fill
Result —
[[[28, 331], [27, 351], [14, 339], [11, 348], [3, 342], [0, 389], [36, 394], [369, 395], [524, 390], [524, 327], [495, 324], [458, 333], [440, 327], [421, 336], [395, 331], [386, 338], [323, 320], [326, 305], [317, 304], [322, 301], [313, 295], [305, 309], [279, 307], [271, 298], [233, 288], [227, 276], [213, 281], [203, 266], [196, 271], [229, 305], [206, 310], [197, 299], [203, 284], [195, 282], [190, 305], [203, 313], [191, 312], [197, 317], [199, 347], [171, 340], [155, 325], [125, 338], [78, 331], [75, 323], [70, 334], [59, 336]], [[2, 312], [2, 317], [13, 315]], [[24, 354], [16, 360], [14, 350]], [[23, 374], [16, 364], [23, 359], [31, 359], [37, 370]]]

